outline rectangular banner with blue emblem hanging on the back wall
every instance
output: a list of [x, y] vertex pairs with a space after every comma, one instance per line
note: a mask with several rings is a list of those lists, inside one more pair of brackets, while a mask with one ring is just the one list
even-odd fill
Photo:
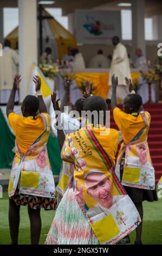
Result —
[[120, 11], [76, 10], [76, 39], [82, 44], [108, 44], [121, 38]]

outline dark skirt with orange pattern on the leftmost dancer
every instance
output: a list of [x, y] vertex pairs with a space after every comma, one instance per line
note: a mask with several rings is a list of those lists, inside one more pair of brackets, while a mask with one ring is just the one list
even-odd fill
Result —
[[14, 196], [10, 197], [16, 205], [25, 205], [32, 209], [44, 208], [44, 210], [55, 210], [56, 198], [30, 196], [29, 194], [20, 194], [19, 189], [16, 189]]

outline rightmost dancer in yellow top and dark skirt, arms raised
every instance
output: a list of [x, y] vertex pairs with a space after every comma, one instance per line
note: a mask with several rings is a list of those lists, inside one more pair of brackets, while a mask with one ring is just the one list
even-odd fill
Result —
[[[126, 84], [131, 94], [124, 99], [123, 111], [116, 107], [116, 87], [118, 77], [112, 76], [113, 93], [111, 108], [116, 125], [121, 131], [121, 144], [115, 173], [121, 184], [135, 204], [141, 220], [143, 217], [142, 201], [157, 200], [154, 168], [147, 144], [147, 133], [150, 127], [150, 113], [144, 111], [141, 96], [135, 94], [131, 80], [126, 78]], [[142, 224], [136, 229], [135, 244], [141, 242]], [[122, 241], [124, 242], [124, 241]], [[129, 242], [127, 237], [126, 242]]]

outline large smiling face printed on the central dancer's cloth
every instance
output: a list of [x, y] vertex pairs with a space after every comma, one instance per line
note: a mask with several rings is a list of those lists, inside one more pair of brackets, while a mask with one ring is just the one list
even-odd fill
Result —
[[113, 204], [111, 181], [102, 173], [90, 173], [86, 177], [87, 193], [104, 208]]

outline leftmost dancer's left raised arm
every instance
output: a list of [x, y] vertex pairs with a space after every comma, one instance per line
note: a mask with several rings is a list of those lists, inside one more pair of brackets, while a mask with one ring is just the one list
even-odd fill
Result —
[[6, 109], [7, 116], [9, 116], [10, 113], [14, 112], [15, 95], [16, 95], [16, 90], [18, 90], [19, 88], [20, 81], [21, 81], [21, 75], [16, 74], [14, 77], [14, 84], [11, 90], [11, 94], [7, 103], [7, 109]]

